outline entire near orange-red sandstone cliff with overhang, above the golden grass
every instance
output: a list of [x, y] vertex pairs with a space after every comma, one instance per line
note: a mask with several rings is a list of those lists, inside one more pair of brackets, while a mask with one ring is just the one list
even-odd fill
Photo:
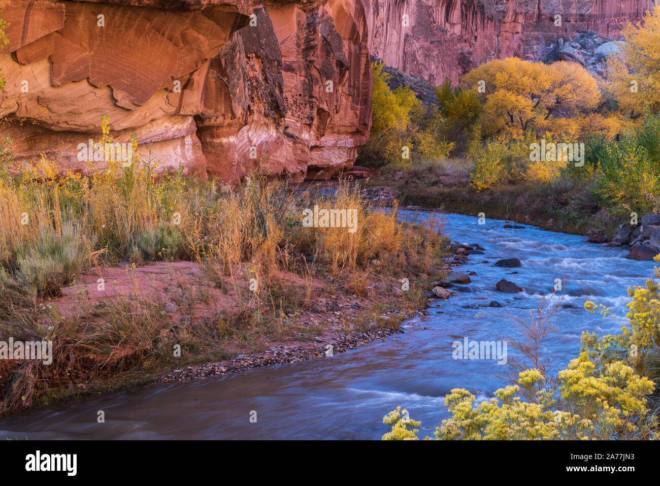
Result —
[[[0, 0], [0, 115], [18, 160], [88, 171], [80, 143], [137, 135], [160, 168], [331, 176], [368, 137], [360, 3]], [[150, 155], [149, 155], [150, 154]], [[104, 162], [96, 161], [100, 168]]]

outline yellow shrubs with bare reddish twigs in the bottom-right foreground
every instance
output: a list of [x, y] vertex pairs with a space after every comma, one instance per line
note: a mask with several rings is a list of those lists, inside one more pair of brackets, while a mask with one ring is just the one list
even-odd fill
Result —
[[[656, 257], [656, 261], [660, 261]], [[660, 268], [655, 268], [660, 278]], [[475, 395], [455, 388], [445, 397], [451, 418], [436, 427], [438, 440], [624, 440], [655, 439], [659, 433], [660, 390], [660, 287], [649, 279], [644, 287], [628, 290], [630, 312], [614, 316], [608, 308], [587, 301], [589, 312], [603, 318], [627, 320], [622, 333], [597, 336], [584, 331], [581, 352], [566, 369], [553, 374], [539, 363], [543, 342], [514, 343], [523, 359], [510, 361], [517, 374], [513, 384], [494, 392], [495, 397], [475, 407]], [[554, 295], [552, 296], [554, 298]], [[552, 298], [550, 299], [552, 300]], [[527, 324], [529, 335], [552, 334], [548, 307]], [[556, 310], [556, 309], [555, 309]], [[522, 369], [522, 370], [521, 370]], [[383, 417], [391, 431], [383, 440], [416, 440], [420, 421], [401, 407]]]

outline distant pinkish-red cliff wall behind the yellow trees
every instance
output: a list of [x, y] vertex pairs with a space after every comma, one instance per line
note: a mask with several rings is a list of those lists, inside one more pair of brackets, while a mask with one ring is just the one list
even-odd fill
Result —
[[[440, 85], [494, 58], [539, 59], [576, 32], [616, 37], [653, 0], [362, 0], [371, 53]], [[555, 16], [561, 26], [555, 26]], [[404, 17], [407, 16], [407, 17]]]

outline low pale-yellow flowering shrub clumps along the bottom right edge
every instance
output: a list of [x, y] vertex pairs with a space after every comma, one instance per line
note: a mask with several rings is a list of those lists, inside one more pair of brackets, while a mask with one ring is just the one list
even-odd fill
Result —
[[[539, 370], [519, 374], [518, 384], [495, 392], [496, 398], [475, 407], [475, 396], [455, 388], [445, 397], [451, 418], [436, 428], [439, 440], [529, 440], [630, 438], [646, 413], [645, 395], [654, 384], [623, 363], [605, 366], [603, 373], [581, 355], [559, 374], [560, 397], [537, 391], [545, 377]], [[523, 396], [533, 396], [524, 401]], [[502, 403], [500, 403], [502, 402]], [[399, 407], [400, 409], [400, 407]], [[400, 410], [383, 423], [392, 430], [383, 439], [414, 439], [420, 423], [401, 419]]]

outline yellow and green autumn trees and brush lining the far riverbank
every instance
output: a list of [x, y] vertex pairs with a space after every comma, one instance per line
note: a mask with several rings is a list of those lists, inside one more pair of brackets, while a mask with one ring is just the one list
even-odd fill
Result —
[[[367, 145], [358, 163], [380, 166], [370, 184], [395, 186], [403, 203], [612, 236], [630, 213], [660, 211], [659, 26], [658, 6], [628, 26], [598, 79], [574, 62], [495, 59], [422, 108], [405, 87], [388, 93], [374, 63], [374, 124], [393, 141]], [[392, 105], [405, 127], [386, 120]], [[424, 155], [429, 144], [438, 156]]]

